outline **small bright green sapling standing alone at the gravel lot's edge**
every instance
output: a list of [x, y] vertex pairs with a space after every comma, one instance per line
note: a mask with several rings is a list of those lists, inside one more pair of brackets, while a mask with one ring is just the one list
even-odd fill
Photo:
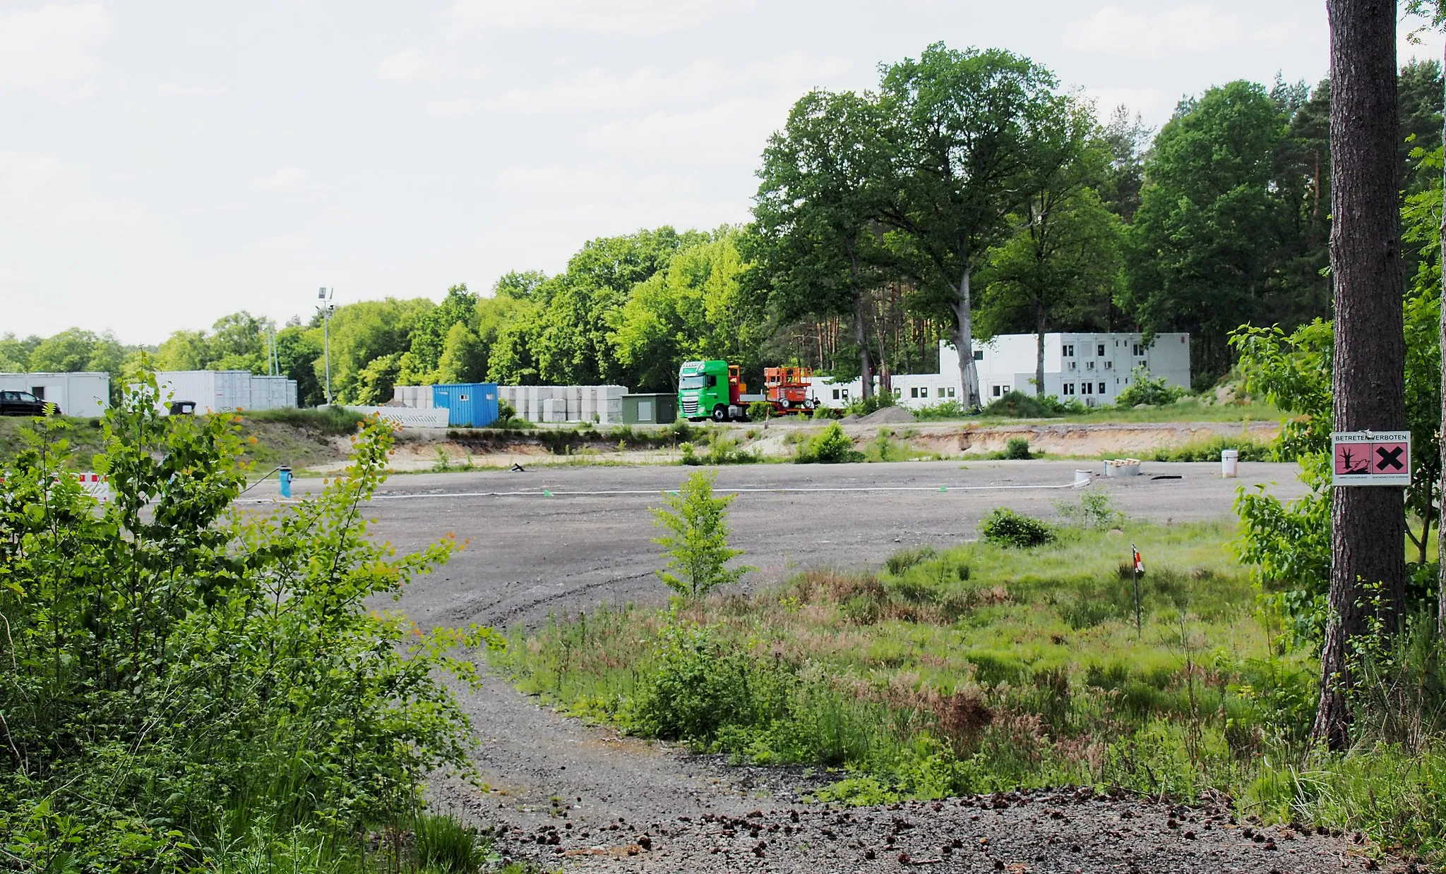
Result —
[[737, 496], [713, 497], [714, 474], [697, 471], [669, 494], [667, 507], [654, 510], [654, 524], [667, 533], [655, 537], [668, 565], [658, 576], [672, 591], [694, 600], [737, 579], [755, 568], [729, 568], [743, 555], [727, 545], [727, 506]]

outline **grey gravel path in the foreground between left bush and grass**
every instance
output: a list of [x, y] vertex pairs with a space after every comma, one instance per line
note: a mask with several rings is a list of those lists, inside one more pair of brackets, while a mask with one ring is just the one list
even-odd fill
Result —
[[[1236, 822], [1092, 790], [882, 808], [810, 805], [826, 774], [733, 767], [581, 724], [489, 676], [466, 699], [486, 790], [458, 780], [432, 803], [499, 826], [509, 860], [547, 871], [1278, 873], [1377, 870], [1345, 835]], [[1395, 865], [1395, 871], [1414, 870]]]

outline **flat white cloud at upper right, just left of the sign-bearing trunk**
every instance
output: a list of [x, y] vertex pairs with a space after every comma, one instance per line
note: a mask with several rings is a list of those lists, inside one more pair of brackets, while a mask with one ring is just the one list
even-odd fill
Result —
[[1210, 4], [1134, 12], [1106, 6], [1064, 29], [1060, 42], [1082, 52], [1129, 58], [1168, 58], [1248, 46], [1280, 46], [1290, 39], [1285, 22], [1220, 12]]

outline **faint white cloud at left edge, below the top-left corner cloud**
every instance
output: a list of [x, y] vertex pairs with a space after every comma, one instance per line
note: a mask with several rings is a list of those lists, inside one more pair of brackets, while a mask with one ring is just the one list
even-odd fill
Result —
[[0, 227], [72, 233], [127, 228], [145, 218], [134, 204], [94, 194], [93, 185], [54, 155], [0, 152]]

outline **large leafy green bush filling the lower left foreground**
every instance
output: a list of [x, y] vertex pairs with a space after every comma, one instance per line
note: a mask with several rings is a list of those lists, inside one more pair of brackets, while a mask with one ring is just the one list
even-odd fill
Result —
[[55, 422], [0, 484], [0, 748], [25, 763], [0, 770], [7, 864], [189, 871], [227, 822], [327, 844], [403, 826], [424, 777], [471, 769], [445, 676], [476, 670], [450, 652], [499, 639], [372, 607], [457, 549], [393, 556], [356, 511], [390, 426], [369, 419], [318, 497], [233, 513], [241, 417], [158, 397], [147, 374], [106, 415], [110, 503], [61, 475]]

